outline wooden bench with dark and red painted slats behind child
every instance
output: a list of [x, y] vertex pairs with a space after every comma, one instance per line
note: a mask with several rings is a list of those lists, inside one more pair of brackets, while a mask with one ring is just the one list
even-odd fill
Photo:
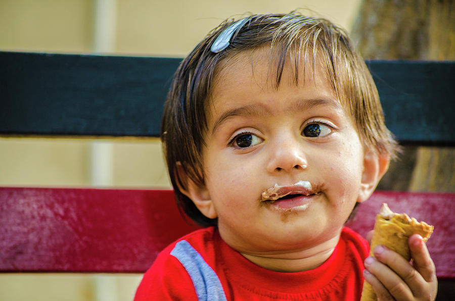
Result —
[[[0, 136], [157, 137], [179, 61], [0, 52]], [[455, 146], [454, 62], [367, 65], [400, 143]], [[377, 191], [348, 226], [371, 230], [383, 202], [435, 225], [438, 299], [455, 299], [455, 193]], [[143, 273], [197, 228], [172, 190], [74, 187], [0, 187], [0, 226], [5, 273]]]

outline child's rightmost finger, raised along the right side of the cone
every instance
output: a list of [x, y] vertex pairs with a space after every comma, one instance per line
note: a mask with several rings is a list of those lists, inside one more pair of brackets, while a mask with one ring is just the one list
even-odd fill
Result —
[[422, 275], [425, 281], [434, 281], [436, 277], [434, 263], [428, 253], [427, 246], [419, 234], [413, 234], [409, 238], [411, 257], [414, 268]]

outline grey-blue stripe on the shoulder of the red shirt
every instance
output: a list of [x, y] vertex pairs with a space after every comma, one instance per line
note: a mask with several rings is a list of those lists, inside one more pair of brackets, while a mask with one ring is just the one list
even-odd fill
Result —
[[187, 270], [199, 301], [226, 300], [223, 287], [215, 271], [188, 241], [177, 242], [170, 254]]

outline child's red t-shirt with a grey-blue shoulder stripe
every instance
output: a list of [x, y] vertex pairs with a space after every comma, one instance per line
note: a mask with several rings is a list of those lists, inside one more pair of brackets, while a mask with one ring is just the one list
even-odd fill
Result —
[[321, 266], [275, 272], [244, 258], [209, 227], [165, 248], [134, 300], [359, 300], [368, 254], [367, 241], [343, 228], [333, 254]]

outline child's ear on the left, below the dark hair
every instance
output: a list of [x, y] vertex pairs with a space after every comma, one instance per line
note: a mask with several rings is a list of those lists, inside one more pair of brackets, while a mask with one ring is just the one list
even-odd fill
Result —
[[206, 217], [214, 219], [217, 217], [215, 207], [213, 206], [210, 193], [205, 185], [196, 184], [185, 172], [180, 162], [176, 164], [176, 172], [178, 173], [177, 186], [181, 193], [188, 196], [199, 209], [199, 211]]

